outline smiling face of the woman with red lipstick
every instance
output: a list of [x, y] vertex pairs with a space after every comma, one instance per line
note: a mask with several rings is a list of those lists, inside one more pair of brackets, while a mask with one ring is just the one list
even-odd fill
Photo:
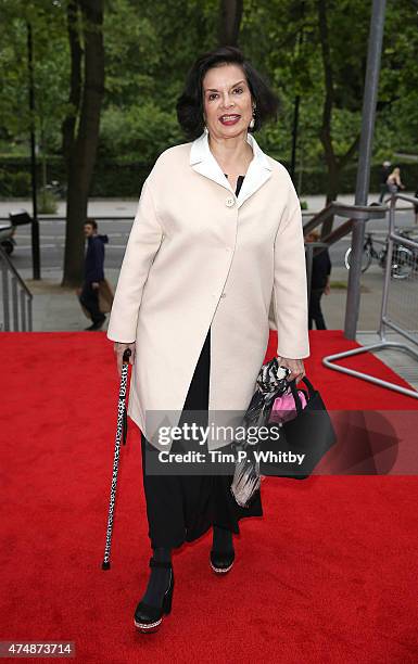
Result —
[[215, 138], [245, 133], [253, 117], [245, 74], [238, 65], [221, 65], [206, 72], [203, 81], [203, 111], [207, 130]]

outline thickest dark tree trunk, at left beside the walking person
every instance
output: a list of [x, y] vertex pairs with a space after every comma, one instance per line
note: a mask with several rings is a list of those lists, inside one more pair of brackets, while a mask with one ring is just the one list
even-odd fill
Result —
[[83, 281], [87, 204], [99, 142], [100, 111], [104, 92], [104, 0], [79, 0], [83, 17], [84, 85], [77, 136], [68, 150], [68, 189], [62, 285]]

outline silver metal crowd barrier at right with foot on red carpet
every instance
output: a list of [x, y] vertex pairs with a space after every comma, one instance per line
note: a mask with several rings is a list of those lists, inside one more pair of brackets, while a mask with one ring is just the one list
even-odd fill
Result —
[[[383, 381], [368, 373], [333, 363], [334, 360], [344, 357], [352, 357], [353, 355], [371, 350], [382, 350], [384, 348], [404, 350], [418, 361], [418, 241], [396, 232], [395, 212], [396, 201], [400, 200], [418, 205], [418, 199], [398, 193], [392, 194], [389, 210], [388, 253], [378, 330], [380, 342], [345, 350], [344, 353], [328, 355], [322, 358], [322, 363], [334, 371], [354, 375], [418, 399], [418, 392], [416, 390], [401, 387], [395, 383]], [[411, 342], [417, 349], [402, 342], [388, 341], [385, 337], [388, 328]]]

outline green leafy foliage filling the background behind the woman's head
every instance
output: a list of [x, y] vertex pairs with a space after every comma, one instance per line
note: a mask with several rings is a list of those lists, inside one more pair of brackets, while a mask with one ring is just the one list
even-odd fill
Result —
[[[331, 132], [338, 156], [349, 150], [360, 128], [370, 8], [371, 2], [364, 0], [326, 2], [333, 78]], [[138, 190], [131, 164], [152, 165], [163, 150], [186, 140], [176, 119], [176, 100], [195, 56], [217, 43], [218, 12], [218, 0], [107, 1], [99, 161], [125, 164], [135, 178], [130, 188], [123, 179], [121, 191], [112, 195]], [[69, 86], [66, 0], [0, 0], [0, 151], [22, 155], [28, 152], [29, 21], [38, 151], [60, 155]], [[417, 24], [413, 2], [388, 2], [376, 163], [383, 158], [395, 161], [396, 151], [418, 152]], [[275, 158], [289, 162], [294, 100], [299, 95], [297, 168], [303, 174], [302, 181], [309, 181], [309, 189], [313, 181], [319, 186], [317, 175], [312, 175], [322, 171], [326, 177], [319, 140], [325, 80], [317, 1], [246, 0], [239, 46], [271, 82], [281, 102], [278, 123], [266, 126], [257, 141]], [[98, 164], [94, 191], [109, 191], [111, 181], [109, 187], [99, 184], [100, 170]], [[104, 171], [103, 177], [106, 180]], [[0, 174], [0, 182], [3, 195], [25, 195], [25, 174]], [[345, 188], [345, 178], [342, 187]]]

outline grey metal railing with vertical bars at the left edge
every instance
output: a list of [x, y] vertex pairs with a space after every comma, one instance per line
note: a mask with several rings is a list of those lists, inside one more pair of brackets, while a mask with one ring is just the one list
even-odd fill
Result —
[[14, 332], [31, 332], [31, 301], [34, 296], [1, 246], [0, 280], [0, 302], [2, 301], [1, 309], [3, 312], [3, 320], [0, 320], [0, 331], [11, 332], [11, 321], [13, 320]]

